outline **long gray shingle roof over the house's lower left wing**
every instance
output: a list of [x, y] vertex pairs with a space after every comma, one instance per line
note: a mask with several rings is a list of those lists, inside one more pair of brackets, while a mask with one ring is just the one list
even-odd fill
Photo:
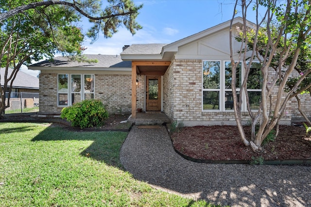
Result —
[[42, 61], [36, 64], [30, 65], [30, 67], [126, 67], [131, 68], [131, 61], [122, 61], [120, 55], [85, 55], [88, 59], [96, 59], [97, 63], [86, 63], [70, 61], [67, 57], [58, 56], [51, 62], [49, 60]]

